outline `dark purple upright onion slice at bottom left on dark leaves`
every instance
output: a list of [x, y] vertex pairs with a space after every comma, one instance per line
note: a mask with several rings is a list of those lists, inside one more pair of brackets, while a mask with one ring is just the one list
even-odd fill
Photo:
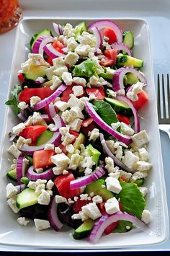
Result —
[[58, 203], [55, 203], [55, 196], [51, 198], [50, 207], [48, 210], [48, 220], [50, 225], [53, 226], [55, 231], [58, 231], [62, 228], [63, 223], [58, 219]]

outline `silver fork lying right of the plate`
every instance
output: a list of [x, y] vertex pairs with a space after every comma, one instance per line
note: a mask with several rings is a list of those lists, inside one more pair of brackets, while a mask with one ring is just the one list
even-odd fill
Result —
[[[161, 81], [161, 83], [160, 83]], [[161, 84], [161, 85], [160, 85]], [[162, 88], [162, 97], [160, 87]], [[168, 107], [166, 107], [166, 94]], [[162, 106], [161, 106], [162, 98]], [[158, 74], [158, 95], [157, 95], [157, 107], [158, 107], [158, 123], [159, 129], [168, 134], [170, 138], [170, 88], [169, 88], [169, 74], [167, 74], [167, 87], [165, 88], [164, 75], [160, 79]], [[161, 116], [161, 108], [163, 110], [163, 116]]]

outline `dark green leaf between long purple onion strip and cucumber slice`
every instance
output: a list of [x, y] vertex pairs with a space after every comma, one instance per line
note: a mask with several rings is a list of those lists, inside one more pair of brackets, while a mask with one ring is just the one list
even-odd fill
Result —
[[93, 105], [96, 107], [99, 116], [107, 123], [107, 125], [118, 122], [116, 112], [112, 109], [109, 103], [104, 102], [104, 100], [97, 100], [93, 102]]

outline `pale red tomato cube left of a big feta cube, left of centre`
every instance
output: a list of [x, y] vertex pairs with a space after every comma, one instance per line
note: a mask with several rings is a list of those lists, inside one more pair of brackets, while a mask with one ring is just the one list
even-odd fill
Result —
[[35, 151], [33, 154], [33, 165], [34, 168], [45, 168], [49, 165], [53, 165], [53, 162], [51, 162], [51, 156], [55, 154], [54, 150], [39, 150]]

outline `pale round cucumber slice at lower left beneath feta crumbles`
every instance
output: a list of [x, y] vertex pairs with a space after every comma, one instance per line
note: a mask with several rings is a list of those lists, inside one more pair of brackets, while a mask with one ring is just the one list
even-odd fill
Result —
[[37, 198], [39, 195], [35, 194], [35, 190], [32, 188], [26, 188], [17, 196], [17, 207], [22, 209], [27, 206], [32, 206], [37, 203]]

